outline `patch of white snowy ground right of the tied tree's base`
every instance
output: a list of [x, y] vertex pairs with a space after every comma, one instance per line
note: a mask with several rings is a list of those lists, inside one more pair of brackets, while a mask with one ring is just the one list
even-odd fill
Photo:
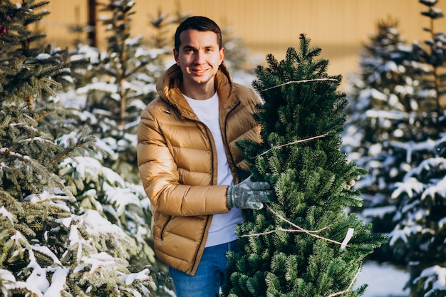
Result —
[[364, 264], [356, 284], [368, 284], [363, 297], [407, 297], [409, 291], [404, 290], [404, 286], [408, 279], [407, 271], [369, 261]]

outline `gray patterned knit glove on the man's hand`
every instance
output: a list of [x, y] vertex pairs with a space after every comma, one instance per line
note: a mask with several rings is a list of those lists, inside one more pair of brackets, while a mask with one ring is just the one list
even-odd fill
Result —
[[262, 209], [271, 193], [268, 182], [251, 182], [248, 177], [243, 182], [230, 186], [226, 192], [226, 204], [229, 209]]

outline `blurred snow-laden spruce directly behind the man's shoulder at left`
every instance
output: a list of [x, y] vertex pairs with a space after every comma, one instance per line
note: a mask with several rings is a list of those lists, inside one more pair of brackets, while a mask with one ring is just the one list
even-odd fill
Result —
[[108, 147], [104, 165], [138, 183], [135, 131], [142, 110], [155, 95], [156, 78], [165, 69], [155, 61], [167, 49], [147, 48], [141, 36], [130, 35], [135, 1], [110, 0], [101, 5], [106, 51], [78, 45], [71, 56], [71, 61], [90, 60], [76, 90], [78, 96], [86, 97], [80, 117]]

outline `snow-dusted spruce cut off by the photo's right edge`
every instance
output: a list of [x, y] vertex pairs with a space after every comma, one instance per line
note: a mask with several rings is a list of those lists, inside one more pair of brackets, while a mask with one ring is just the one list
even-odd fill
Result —
[[419, 111], [420, 125], [410, 126], [423, 141], [415, 138], [399, 145], [411, 162], [392, 192], [397, 209], [390, 247], [408, 265], [410, 296], [440, 297], [446, 294], [446, 32], [435, 30], [435, 20], [443, 17], [441, 9], [435, 8], [437, 1], [420, 3], [427, 6], [422, 15], [429, 19], [430, 26], [425, 28], [429, 38], [424, 47], [413, 43], [413, 60], [426, 69], [419, 78], [420, 98], [434, 102]]

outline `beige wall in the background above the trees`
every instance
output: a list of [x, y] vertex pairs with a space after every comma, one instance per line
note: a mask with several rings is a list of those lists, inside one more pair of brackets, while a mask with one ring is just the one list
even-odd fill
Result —
[[[299, 34], [306, 33], [313, 46], [322, 48], [328, 58], [330, 74], [356, 71], [361, 43], [375, 33], [377, 21], [391, 16], [400, 21], [400, 33], [408, 42], [425, 40], [428, 18], [420, 12], [425, 6], [418, 0], [135, 0], [133, 34], [150, 36], [150, 16], [157, 11], [174, 15], [209, 16], [222, 28], [231, 27], [248, 46], [249, 54], [263, 63], [266, 53], [284, 58], [286, 48], [297, 47]], [[51, 12], [43, 19], [49, 40], [56, 46], [71, 45], [74, 37], [68, 24], [87, 20], [88, 0], [50, 0]], [[108, 3], [108, 0], [102, 0]], [[177, 7], [180, 7], [177, 9]], [[446, 14], [446, 0], [437, 7]], [[436, 23], [437, 30], [446, 30], [446, 18]]]

